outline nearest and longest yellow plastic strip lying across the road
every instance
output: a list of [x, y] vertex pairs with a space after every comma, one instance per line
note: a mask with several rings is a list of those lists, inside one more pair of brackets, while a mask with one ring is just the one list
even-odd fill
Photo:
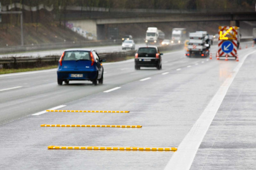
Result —
[[177, 148], [165, 147], [106, 147], [106, 146], [48, 146], [48, 149], [84, 149], [84, 150], [129, 150], [129, 151], [177, 151]]

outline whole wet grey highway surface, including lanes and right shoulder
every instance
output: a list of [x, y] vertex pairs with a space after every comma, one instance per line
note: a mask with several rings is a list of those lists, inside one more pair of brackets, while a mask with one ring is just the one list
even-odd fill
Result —
[[[216, 60], [216, 51], [213, 46], [213, 59], [165, 53], [162, 70], [135, 70], [133, 59], [104, 63], [104, 83], [97, 86], [57, 85], [56, 69], [0, 75], [0, 169], [256, 169], [256, 49], [239, 50], [239, 62]], [[56, 107], [130, 112], [45, 111]], [[49, 145], [178, 150], [48, 150]]]

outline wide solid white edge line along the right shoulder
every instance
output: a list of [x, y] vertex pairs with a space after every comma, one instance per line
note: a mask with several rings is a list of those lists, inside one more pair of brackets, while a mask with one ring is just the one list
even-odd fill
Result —
[[247, 54], [233, 70], [230, 76], [225, 80], [225, 82], [219, 87], [218, 92], [213, 96], [199, 119], [197, 119], [189, 133], [184, 137], [183, 141], [178, 146], [178, 151], [171, 157], [170, 161], [165, 167], [165, 170], [190, 169], [197, 150], [206, 132], [208, 131], [213, 118], [219, 110], [219, 106], [228, 92], [229, 86], [232, 84], [247, 56], [254, 52], [256, 51]]

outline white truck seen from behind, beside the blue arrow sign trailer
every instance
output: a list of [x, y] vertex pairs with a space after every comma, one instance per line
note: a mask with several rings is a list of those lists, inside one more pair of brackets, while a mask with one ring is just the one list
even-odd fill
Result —
[[206, 33], [195, 32], [189, 34], [189, 45], [186, 51], [187, 57], [208, 57], [210, 45], [206, 42]]

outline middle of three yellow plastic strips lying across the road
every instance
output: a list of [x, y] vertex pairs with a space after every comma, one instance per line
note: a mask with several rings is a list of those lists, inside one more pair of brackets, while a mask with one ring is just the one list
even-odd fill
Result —
[[43, 124], [41, 127], [142, 127], [142, 125], [60, 125]]

